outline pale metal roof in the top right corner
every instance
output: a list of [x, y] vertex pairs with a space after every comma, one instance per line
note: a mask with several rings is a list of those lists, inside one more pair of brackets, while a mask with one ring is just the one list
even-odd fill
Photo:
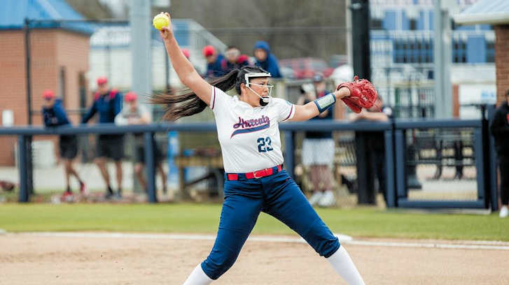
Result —
[[509, 24], [509, 1], [480, 0], [453, 17], [458, 24]]

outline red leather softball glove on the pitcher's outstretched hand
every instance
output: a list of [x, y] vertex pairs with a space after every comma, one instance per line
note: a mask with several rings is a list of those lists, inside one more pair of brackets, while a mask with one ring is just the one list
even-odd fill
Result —
[[350, 96], [341, 98], [341, 100], [356, 113], [361, 112], [363, 108], [371, 108], [377, 101], [377, 90], [368, 80], [359, 80], [358, 76], [355, 76], [354, 81], [344, 82], [336, 90], [340, 90], [342, 87], [349, 89]]

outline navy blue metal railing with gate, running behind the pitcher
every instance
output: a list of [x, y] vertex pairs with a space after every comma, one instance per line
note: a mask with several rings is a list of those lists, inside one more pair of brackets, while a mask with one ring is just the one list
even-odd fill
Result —
[[[488, 121], [482, 120], [453, 120], [453, 119], [424, 119], [424, 120], [403, 120], [395, 119], [391, 122], [373, 123], [373, 122], [346, 122], [334, 121], [328, 122], [289, 122], [280, 125], [281, 138], [284, 150], [285, 168], [288, 173], [295, 177], [295, 135], [302, 131], [354, 131], [362, 133], [366, 131], [379, 131], [384, 133], [385, 142], [385, 173], [386, 173], [386, 206], [387, 207], [419, 207], [419, 208], [479, 208], [496, 210], [496, 164], [494, 156], [493, 138], [489, 135]], [[413, 159], [414, 155], [408, 152], [410, 145], [426, 145], [415, 143], [419, 140], [419, 136], [415, 136], [414, 130], [421, 133], [430, 130], [441, 130], [442, 136], [450, 136], [447, 129], [466, 129], [463, 131], [459, 139], [471, 139], [471, 143], [466, 142], [464, 145], [470, 147], [471, 155], [466, 155], [465, 167], [472, 168], [475, 175], [476, 195], [475, 198], [462, 199], [426, 199], [412, 198], [412, 193], [417, 193], [409, 187], [409, 176], [412, 175], [412, 164], [424, 167], [430, 163], [441, 163], [442, 161], [430, 162], [429, 159]], [[413, 130], [413, 131], [409, 131]], [[62, 126], [58, 128], [44, 128], [42, 126], [34, 127], [11, 127], [0, 128], [1, 136], [17, 136], [18, 142], [18, 170], [20, 175], [20, 193], [19, 201], [28, 202], [30, 193], [33, 193], [31, 182], [32, 163], [30, 156], [30, 142], [34, 136], [55, 136], [55, 135], [85, 135], [85, 134], [114, 134], [114, 133], [143, 133], [146, 154], [146, 176], [148, 177], [148, 201], [151, 203], [158, 202], [157, 192], [155, 191], [155, 167], [154, 167], [154, 134], [167, 133], [170, 131], [190, 132], [190, 133], [215, 133], [216, 125], [212, 122], [197, 123], [181, 123], [181, 124], [150, 124], [139, 126]], [[457, 133], [458, 131], [456, 131]], [[465, 135], [465, 133], [467, 133]], [[440, 137], [440, 136], [439, 136]], [[414, 140], [412, 142], [412, 140]], [[354, 143], [354, 142], [347, 142]], [[426, 147], [424, 151], [426, 151]], [[428, 147], [429, 148], [429, 147]], [[417, 147], [414, 151], [419, 152], [421, 149]], [[440, 149], [435, 149], [439, 151]], [[444, 164], [444, 167], [454, 167]], [[369, 161], [357, 159], [357, 172], [368, 169]], [[457, 181], [452, 182], [457, 184]], [[471, 183], [470, 183], [471, 184]], [[443, 184], [447, 188], [447, 184]], [[450, 185], [450, 184], [449, 184]], [[363, 193], [365, 189], [358, 189], [359, 196], [367, 195]], [[362, 203], [361, 200], [358, 200]]]

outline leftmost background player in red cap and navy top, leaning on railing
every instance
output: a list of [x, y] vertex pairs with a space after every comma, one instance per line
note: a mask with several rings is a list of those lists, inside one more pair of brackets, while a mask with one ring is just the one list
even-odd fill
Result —
[[[67, 119], [67, 115], [62, 108], [62, 101], [57, 100], [55, 98], [55, 93], [51, 90], [46, 90], [43, 92], [43, 120], [46, 126], [64, 126], [70, 125], [69, 119]], [[78, 182], [80, 183], [80, 193], [85, 193], [85, 183], [79, 177], [78, 173], [72, 166], [72, 161], [76, 158], [78, 154], [78, 137], [72, 135], [62, 135], [60, 136], [60, 159], [64, 163], [65, 170], [65, 182], [67, 184], [67, 189], [62, 194], [62, 199], [64, 200], [68, 196], [72, 195], [71, 186], [69, 184], [69, 180], [71, 174], [76, 177]]]

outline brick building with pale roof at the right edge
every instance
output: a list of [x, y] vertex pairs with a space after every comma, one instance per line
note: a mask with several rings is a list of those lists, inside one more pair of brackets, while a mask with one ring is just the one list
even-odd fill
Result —
[[491, 24], [495, 30], [496, 101], [509, 89], [509, 1], [480, 0], [454, 17], [458, 24]]

